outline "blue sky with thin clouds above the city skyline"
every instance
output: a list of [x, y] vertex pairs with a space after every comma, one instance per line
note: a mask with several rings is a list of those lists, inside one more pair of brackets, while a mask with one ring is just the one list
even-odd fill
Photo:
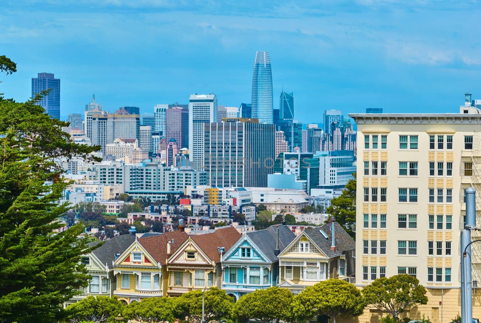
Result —
[[[256, 50], [272, 62], [274, 107], [282, 86], [296, 117], [326, 109], [457, 112], [481, 99], [477, 1], [2, 0], [0, 55], [17, 63], [0, 92], [30, 97], [31, 77], [62, 79], [61, 114], [95, 92], [104, 109], [251, 101]], [[302, 3], [301, 3], [302, 2]]]

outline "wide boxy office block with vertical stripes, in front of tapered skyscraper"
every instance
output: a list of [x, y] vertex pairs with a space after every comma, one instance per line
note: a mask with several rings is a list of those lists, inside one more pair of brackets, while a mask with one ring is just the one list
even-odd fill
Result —
[[275, 158], [275, 127], [257, 119], [204, 124], [204, 169], [211, 186], [265, 187]]

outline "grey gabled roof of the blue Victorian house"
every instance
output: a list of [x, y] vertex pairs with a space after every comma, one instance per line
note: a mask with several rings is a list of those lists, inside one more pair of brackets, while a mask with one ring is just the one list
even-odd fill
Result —
[[[296, 235], [286, 225], [279, 225], [279, 250], [284, 250], [295, 239]], [[269, 261], [278, 261], [274, 250], [276, 250], [276, 225], [271, 225], [267, 229], [251, 231], [246, 236], [251, 239], [259, 250], [266, 255]]]

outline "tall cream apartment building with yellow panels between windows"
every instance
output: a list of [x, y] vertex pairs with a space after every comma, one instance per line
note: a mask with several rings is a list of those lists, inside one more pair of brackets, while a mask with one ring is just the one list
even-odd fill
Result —
[[[424, 313], [432, 323], [451, 322], [461, 306], [460, 229], [469, 186], [481, 210], [481, 110], [467, 103], [460, 113], [349, 115], [359, 140], [355, 283], [416, 276], [429, 303], [405, 317]], [[473, 286], [481, 282], [480, 251], [481, 243], [473, 244]], [[475, 318], [481, 318], [479, 295], [473, 292]], [[380, 315], [367, 310], [357, 320], [379, 322]]]

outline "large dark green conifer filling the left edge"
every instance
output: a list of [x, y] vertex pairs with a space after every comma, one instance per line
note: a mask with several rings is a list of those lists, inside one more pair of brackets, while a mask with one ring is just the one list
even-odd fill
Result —
[[70, 182], [54, 161], [98, 161], [89, 153], [100, 147], [70, 141], [61, 130], [67, 123], [45, 114], [39, 99], [0, 99], [0, 322], [62, 319], [62, 303], [89, 277], [79, 265], [91, 250], [87, 239], [77, 239], [83, 225], [53, 234], [71, 208], [58, 204]]

